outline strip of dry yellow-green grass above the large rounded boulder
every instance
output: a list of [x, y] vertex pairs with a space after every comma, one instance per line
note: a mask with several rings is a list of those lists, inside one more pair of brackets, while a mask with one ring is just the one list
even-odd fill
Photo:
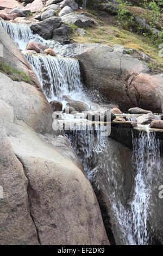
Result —
[[[102, 24], [102, 22], [100, 22]], [[108, 25], [103, 22], [103, 25], [88, 27], [86, 34], [78, 34], [73, 31], [70, 39], [79, 43], [99, 43], [114, 46], [115, 44], [126, 48], [134, 48], [137, 51], [147, 54], [152, 60], [153, 65], [159, 66], [159, 70], [163, 68], [162, 57], [159, 56], [160, 48], [156, 47], [152, 40], [145, 38], [143, 35], [131, 33], [126, 29], [122, 29], [114, 24]]]

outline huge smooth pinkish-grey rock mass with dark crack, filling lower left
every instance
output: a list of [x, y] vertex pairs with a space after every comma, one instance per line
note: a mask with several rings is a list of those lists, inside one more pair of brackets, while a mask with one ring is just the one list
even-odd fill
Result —
[[0, 90], [5, 101], [0, 101], [0, 124], [8, 136], [1, 131], [1, 245], [107, 245], [96, 196], [70, 143], [33, 130], [35, 118], [42, 119], [39, 127], [48, 125], [41, 95], [29, 84], [22, 90], [21, 83], [5, 80], [5, 86], [8, 94], [4, 84]]

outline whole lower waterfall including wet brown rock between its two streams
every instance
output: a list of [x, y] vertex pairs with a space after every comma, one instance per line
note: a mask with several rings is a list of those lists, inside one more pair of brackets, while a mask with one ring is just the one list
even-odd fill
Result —
[[[111, 244], [162, 242], [158, 217], [161, 200], [153, 196], [162, 163], [160, 142], [154, 133], [146, 130], [137, 137], [133, 132], [133, 153], [98, 131], [67, 134], [93, 185]], [[159, 209], [157, 216], [154, 209]]]

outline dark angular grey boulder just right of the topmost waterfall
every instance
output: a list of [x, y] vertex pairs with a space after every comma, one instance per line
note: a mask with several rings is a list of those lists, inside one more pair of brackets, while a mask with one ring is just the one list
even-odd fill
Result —
[[60, 17], [51, 17], [37, 24], [32, 24], [30, 28], [35, 34], [39, 34], [43, 39], [52, 39], [54, 29], [61, 25]]

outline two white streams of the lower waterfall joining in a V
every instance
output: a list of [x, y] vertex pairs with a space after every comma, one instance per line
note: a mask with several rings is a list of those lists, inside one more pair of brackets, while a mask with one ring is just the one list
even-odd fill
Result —
[[[100, 190], [98, 179], [107, 179], [111, 210], [122, 245], [148, 245], [148, 206], [155, 176], [160, 170], [160, 142], [155, 133], [146, 131], [136, 137], [133, 132], [133, 166], [136, 170], [133, 194], [122, 202], [123, 177], [117, 175], [120, 163], [107, 137], [99, 132], [68, 132], [73, 148], [82, 161], [87, 178]], [[101, 154], [102, 153], [102, 154]], [[103, 156], [107, 157], [106, 159]], [[101, 172], [102, 170], [102, 172]], [[103, 173], [103, 176], [101, 177]], [[100, 177], [99, 177], [100, 176]], [[100, 182], [102, 183], [102, 182]]]

